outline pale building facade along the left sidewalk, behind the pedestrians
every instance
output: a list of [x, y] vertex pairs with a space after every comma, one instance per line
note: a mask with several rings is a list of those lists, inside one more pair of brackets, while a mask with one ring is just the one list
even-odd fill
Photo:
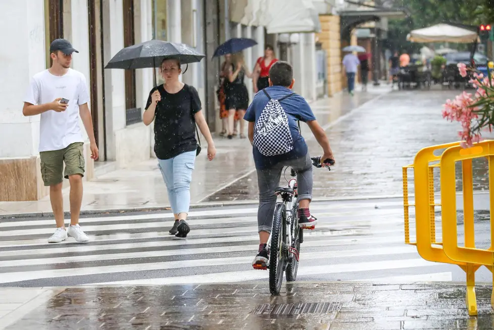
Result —
[[[205, 54], [200, 63], [182, 67], [187, 70], [181, 79], [199, 92], [212, 131], [221, 127], [216, 90], [223, 61], [212, 59], [212, 53], [230, 37], [248, 37], [258, 42], [244, 51], [251, 71], [257, 58], [263, 56], [266, 42], [273, 44], [277, 57], [293, 64], [297, 81], [294, 90], [308, 100], [316, 99], [315, 34], [288, 30], [287, 37], [283, 24], [276, 27], [276, 33], [269, 33], [274, 27], [259, 13], [263, 6], [272, 12], [271, 5], [266, 0], [0, 2], [0, 31], [4, 44], [9, 45], [0, 49], [0, 75], [8, 77], [0, 82], [0, 201], [37, 200], [49, 193], [40, 175], [39, 116], [24, 117], [22, 106], [31, 77], [51, 65], [48, 49], [55, 38], [68, 39], [79, 51], [73, 56], [72, 68], [84, 74], [90, 91], [100, 159], [90, 159], [83, 129], [84, 180], [155, 157], [153, 126], [142, 123], [142, 113], [155, 77], [158, 84], [163, 81], [159, 70], [105, 69], [108, 61], [126, 46], [155, 38], [184, 42]], [[246, 80], [246, 85], [252, 100], [252, 80]]]

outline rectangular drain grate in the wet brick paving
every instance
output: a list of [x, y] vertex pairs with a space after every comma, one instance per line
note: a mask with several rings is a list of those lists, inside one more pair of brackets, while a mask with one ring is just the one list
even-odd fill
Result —
[[256, 315], [298, 315], [338, 311], [341, 303], [260, 304], [254, 309]]

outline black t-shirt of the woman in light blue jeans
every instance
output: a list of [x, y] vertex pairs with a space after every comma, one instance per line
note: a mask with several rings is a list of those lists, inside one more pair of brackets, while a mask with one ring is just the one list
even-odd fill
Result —
[[197, 148], [194, 115], [201, 111], [197, 90], [187, 84], [171, 94], [163, 85], [151, 89], [146, 110], [151, 105], [151, 95], [158, 89], [161, 101], [155, 110], [155, 154], [158, 159], [170, 159]]

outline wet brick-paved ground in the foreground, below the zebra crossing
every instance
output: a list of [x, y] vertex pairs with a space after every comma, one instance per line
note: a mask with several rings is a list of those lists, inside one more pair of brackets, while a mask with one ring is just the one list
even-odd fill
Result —
[[454, 284], [352, 282], [69, 288], [7, 329], [487, 329], [491, 286], [469, 317]]

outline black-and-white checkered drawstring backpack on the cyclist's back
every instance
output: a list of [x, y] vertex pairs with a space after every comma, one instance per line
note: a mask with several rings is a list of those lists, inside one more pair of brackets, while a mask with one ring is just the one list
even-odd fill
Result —
[[279, 101], [289, 98], [295, 93], [288, 94], [279, 100], [274, 100], [271, 99], [266, 90], [263, 89], [263, 91], [269, 102], [264, 107], [261, 117], [259, 117], [254, 128], [253, 145], [264, 156], [286, 154], [293, 149], [293, 138], [288, 126], [288, 117], [286, 117]]

